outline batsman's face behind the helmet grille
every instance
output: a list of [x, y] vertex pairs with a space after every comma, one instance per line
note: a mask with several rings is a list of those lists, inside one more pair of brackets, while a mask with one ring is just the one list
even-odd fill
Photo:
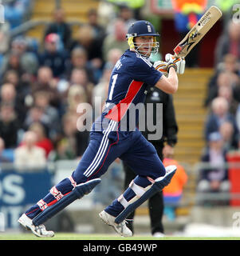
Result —
[[151, 49], [153, 46], [154, 38], [153, 36], [140, 36], [135, 38], [135, 45], [136, 49], [140, 54], [143, 54], [145, 56], [150, 56]]

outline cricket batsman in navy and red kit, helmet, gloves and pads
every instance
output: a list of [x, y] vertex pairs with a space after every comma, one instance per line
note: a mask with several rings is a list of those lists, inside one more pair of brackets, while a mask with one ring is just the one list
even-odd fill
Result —
[[92, 125], [89, 146], [77, 169], [70, 177], [53, 186], [44, 198], [18, 219], [33, 234], [53, 237], [53, 231], [46, 230], [43, 223], [71, 202], [89, 194], [116, 158], [127, 162], [137, 176], [99, 216], [121, 236], [132, 236], [132, 231], [125, 224], [128, 215], [171, 182], [176, 167], [169, 166], [165, 170], [154, 146], [136, 127], [138, 113], [133, 128], [130, 123], [125, 126], [122, 122], [131, 106], [144, 103], [144, 92], [148, 86], [156, 86], [167, 94], [178, 90], [177, 73], [183, 74], [185, 60], [167, 54], [166, 62], [152, 65], [149, 57], [159, 50], [157, 37], [159, 34], [150, 22], [140, 20], [129, 27], [126, 35], [129, 49], [112, 70], [104, 110]]

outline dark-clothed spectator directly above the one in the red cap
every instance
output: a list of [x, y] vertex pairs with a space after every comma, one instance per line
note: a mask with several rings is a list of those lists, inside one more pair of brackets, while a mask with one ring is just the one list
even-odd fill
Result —
[[44, 34], [44, 39], [49, 34], [58, 34], [65, 49], [69, 49], [72, 40], [72, 30], [69, 24], [65, 21], [65, 10], [57, 8], [53, 11], [53, 22], [47, 26]]

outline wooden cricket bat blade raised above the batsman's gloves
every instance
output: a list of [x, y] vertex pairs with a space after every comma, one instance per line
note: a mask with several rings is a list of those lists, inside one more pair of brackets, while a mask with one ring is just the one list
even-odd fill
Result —
[[222, 16], [222, 11], [216, 6], [210, 8], [203, 14], [199, 22], [191, 28], [185, 38], [174, 48], [175, 57], [185, 58], [191, 49], [204, 37], [212, 26]]

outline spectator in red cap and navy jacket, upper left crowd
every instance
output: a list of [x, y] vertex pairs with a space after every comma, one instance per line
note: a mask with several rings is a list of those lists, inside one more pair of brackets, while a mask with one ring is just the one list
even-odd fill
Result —
[[54, 78], [61, 78], [65, 73], [69, 54], [65, 50], [59, 50], [60, 38], [57, 34], [48, 34], [45, 37], [44, 50], [39, 54], [40, 66], [49, 66]]

